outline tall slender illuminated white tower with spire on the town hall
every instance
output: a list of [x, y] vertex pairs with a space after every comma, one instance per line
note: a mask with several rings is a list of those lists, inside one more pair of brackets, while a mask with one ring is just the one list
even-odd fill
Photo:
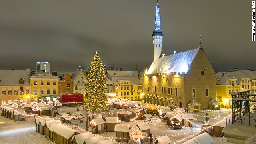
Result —
[[154, 44], [154, 61], [159, 58], [162, 53], [163, 34], [161, 30], [161, 16], [159, 14], [158, 2], [156, 4], [156, 16], [155, 16], [155, 30], [153, 31], [153, 44]]

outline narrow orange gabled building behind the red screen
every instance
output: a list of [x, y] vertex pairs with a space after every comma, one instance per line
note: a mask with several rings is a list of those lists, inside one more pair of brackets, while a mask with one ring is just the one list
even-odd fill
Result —
[[73, 92], [73, 80], [69, 73], [63, 75], [59, 80], [59, 94], [72, 93]]

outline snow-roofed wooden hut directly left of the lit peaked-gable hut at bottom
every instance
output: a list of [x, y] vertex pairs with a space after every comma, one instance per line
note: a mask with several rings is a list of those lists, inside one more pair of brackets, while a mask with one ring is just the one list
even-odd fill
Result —
[[128, 142], [129, 141], [129, 129], [130, 124], [116, 124], [116, 141], [118, 142]]

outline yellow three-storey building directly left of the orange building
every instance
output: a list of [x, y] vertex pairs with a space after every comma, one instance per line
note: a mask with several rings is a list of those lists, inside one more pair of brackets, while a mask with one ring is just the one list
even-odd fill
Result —
[[38, 72], [30, 76], [30, 84], [32, 91], [32, 99], [36, 102], [44, 101], [55, 101], [58, 99], [58, 76], [47, 74], [45, 72]]

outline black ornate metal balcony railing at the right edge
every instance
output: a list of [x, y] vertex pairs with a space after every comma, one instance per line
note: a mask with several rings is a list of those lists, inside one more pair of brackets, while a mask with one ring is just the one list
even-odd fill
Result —
[[[244, 92], [232, 92], [232, 124], [238, 121], [238, 124], [244, 124], [244, 121], [248, 118], [248, 124], [250, 126], [250, 120], [254, 117], [251, 113], [256, 113], [256, 91], [247, 90]], [[256, 119], [254, 119], [256, 121]], [[256, 125], [255, 125], [256, 126]]]

